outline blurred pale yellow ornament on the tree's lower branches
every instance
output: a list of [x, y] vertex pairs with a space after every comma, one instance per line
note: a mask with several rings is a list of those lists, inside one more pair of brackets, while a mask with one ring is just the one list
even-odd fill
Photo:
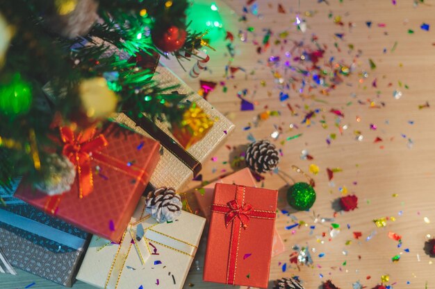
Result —
[[115, 112], [117, 96], [104, 78], [83, 80], [79, 86], [83, 110], [91, 120], [104, 119]]

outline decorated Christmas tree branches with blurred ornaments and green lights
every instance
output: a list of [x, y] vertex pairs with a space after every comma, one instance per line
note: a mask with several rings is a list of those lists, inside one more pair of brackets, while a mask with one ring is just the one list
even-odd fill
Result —
[[113, 112], [180, 121], [183, 96], [152, 76], [158, 55], [180, 58], [205, 44], [187, 31], [187, 8], [186, 0], [0, 0], [0, 186], [47, 178], [52, 152], [62, 153], [59, 125], [81, 130]]

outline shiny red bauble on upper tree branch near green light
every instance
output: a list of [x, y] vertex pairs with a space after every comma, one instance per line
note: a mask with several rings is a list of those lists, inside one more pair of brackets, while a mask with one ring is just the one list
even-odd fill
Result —
[[177, 26], [170, 26], [163, 35], [157, 34], [156, 30], [151, 33], [151, 39], [158, 49], [164, 52], [178, 51], [186, 42], [186, 30]]

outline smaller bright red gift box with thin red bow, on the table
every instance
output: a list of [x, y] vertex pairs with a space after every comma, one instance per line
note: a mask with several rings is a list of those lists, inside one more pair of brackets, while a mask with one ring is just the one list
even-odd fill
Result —
[[268, 288], [278, 191], [216, 184], [204, 281]]

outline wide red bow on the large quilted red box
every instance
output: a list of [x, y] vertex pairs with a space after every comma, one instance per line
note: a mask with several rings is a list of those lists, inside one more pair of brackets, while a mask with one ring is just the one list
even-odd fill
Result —
[[92, 168], [90, 161], [99, 158], [99, 150], [108, 145], [103, 134], [94, 137], [95, 129], [85, 130], [76, 137], [71, 128], [60, 128], [60, 139], [62, 139], [63, 155], [68, 157], [74, 164], [79, 178], [79, 197], [89, 195], [94, 189], [92, 181]]

